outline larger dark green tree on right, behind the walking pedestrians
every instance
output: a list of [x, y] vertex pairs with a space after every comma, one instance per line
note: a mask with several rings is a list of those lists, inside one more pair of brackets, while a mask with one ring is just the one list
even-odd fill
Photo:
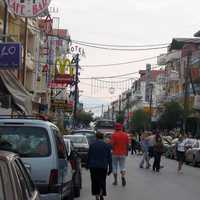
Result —
[[184, 110], [178, 102], [171, 101], [164, 105], [158, 124], [161, 128], [171, 130], [177, 128], [177, 125], [182, 122]]

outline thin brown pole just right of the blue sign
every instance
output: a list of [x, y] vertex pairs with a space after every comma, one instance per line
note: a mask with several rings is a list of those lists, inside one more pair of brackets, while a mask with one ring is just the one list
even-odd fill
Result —
[[23, 76], [22, 83], [26, 84], [26, 55], [27, 55], [27, 42], [28, 42], [28, 18], [25, 17], [25, 31], [24, 31], [24, 51], [23, 51]]

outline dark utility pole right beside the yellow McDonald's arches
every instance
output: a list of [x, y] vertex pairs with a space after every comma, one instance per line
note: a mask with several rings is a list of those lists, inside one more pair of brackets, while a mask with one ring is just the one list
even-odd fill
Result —
[[73, 113], [73, 117], [74, 117], [74, 127], [76, 126], [76, 119], [77, 119], [77, 105], [78, 105], [78, 101], [79, 101], [79, 91], [78, 91], [78, 75], [79, 75], [79, 54], [76, 54], [75, 58], [75, 66], [76, 66], [76, 75], [75, 75], [75, 100], [74, 100], [74, 113]]

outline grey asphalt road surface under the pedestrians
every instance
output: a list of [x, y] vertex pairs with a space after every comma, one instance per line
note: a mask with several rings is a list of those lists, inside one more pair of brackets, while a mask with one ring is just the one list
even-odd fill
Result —
[[[141, 157], [127, 159], [127, 186], [113, 186], [113, 177], [107, 179], [106, 200], [199, 200], [200, 168], [184, 166], [183, 174], [177, 174], [176, 162], [163, 158], [164, 169], [159, 174], [139, 169]], [[77, 200], [93, 200], [89, 171], [83, 170], [83, 189]]]

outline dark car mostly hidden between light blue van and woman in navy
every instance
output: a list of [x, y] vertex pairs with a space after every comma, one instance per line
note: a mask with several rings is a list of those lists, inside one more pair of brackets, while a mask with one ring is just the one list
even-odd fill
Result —
[[67, 149], [67, 155], [73, 169], [74, 196], [79, 197], [82, 187], [81, 159], [74, 149], [73, 143], [66, 138], [64, 141]]

